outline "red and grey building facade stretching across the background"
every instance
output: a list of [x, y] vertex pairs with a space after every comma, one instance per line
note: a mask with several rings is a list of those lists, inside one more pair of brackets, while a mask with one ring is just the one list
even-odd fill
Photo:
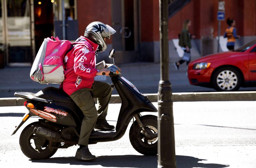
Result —
[[[225, 19], [236, 21], [236, 47], [256, 37], [256, 1], [224, 0]], [[44, 38], [58, 36], [74, 41], [86, 26], [100, 21], [117, 32], [98, 60], [108, 60], [116, 50], [115, 63], [160, 62], [159, 0], [1, 0], [0, 67], [31, 66]], [[191, 0], [169, 18], [169, 60], [177, 61], [178, 34], [183, 21], [192, 21], [192, 59], [216, 53], [219, 0]], [[63, 19], [64, 18], [64, 19]], [[227, 28], [220, 21], [220, 35]], [[225, 44], [221, 44], [222, 46]], [[222, 48], [221, 48], [222, 49]], [[222, 51], [222, 50], [220, 50]], [[225, 50], [223, 50], [225, 51]]]

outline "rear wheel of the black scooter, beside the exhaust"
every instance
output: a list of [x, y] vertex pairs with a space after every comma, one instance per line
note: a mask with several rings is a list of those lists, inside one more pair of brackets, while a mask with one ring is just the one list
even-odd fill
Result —
[[53, 142], [51, 148], [49, 140], [36, 136], [33, 130], [36, 126], [42, 126], [38, 121], [27, 125], [20, 134], [21, 151], [30, 159], [47, 159], [56, 153], [58, 143]]

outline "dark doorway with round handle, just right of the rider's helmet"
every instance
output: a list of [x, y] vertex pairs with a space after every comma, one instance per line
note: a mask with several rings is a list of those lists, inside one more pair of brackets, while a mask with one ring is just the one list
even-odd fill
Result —
[[112, 0], [113, 49], [118, 63], [139, 61], [140, 0]]

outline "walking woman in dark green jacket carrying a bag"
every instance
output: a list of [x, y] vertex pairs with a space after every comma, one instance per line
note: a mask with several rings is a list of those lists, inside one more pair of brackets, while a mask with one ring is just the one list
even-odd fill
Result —
[[179, 66], [183, 64], [185, 61], [188, 65], [188, 63], [191, 60], [191, 54], [190, 54], [191, 34], [189, 33], [189, 30], [188, 30], [190, 26], [191, 26], [191, 21], [189, 19], [186, 19], [183, 23], [183, 27], [179, 37], [179, 46], [182, 48], [182, 50], [184, 50], [184, 55], [181, 60], [174, 63], [176, 70], [179, 70]]

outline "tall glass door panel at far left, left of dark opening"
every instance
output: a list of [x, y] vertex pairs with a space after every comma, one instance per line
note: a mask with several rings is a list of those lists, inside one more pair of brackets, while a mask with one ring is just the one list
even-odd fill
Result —
[[9, 66], [31, 65], [29, 0], [2, 0], [3, 43]]

